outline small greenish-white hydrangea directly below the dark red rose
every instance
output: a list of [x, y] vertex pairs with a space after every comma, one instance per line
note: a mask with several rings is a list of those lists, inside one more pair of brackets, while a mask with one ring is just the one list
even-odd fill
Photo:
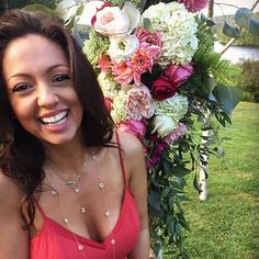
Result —
[[178, 123], [188, 112], [189, 101], [187, 97], [174, 94], [164, 101], [155, 102], [155, 114], [170, 116]]

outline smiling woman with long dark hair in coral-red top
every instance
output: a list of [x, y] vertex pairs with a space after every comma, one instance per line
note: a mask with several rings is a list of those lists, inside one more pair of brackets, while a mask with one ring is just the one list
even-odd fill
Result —
[[148, 258], [142, 144], [114, 131], [85, 55], [40, 13], [0, 19], [0, 258]]

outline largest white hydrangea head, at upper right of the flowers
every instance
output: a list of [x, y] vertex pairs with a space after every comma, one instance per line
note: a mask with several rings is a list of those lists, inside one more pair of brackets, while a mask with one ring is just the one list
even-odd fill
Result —
[[158, 61], [162, 67], [170, 63], [191, 61], [198, 49], [198, 24], [194, 14], [183, 3], [160, 2], [148, 8], [143, 18], [149, 19], [153, 29], [162, 35], [161, 57]]

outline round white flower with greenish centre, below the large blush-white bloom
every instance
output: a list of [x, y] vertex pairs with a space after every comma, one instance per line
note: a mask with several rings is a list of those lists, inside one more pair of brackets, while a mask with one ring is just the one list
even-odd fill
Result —
[[126, 60], [138, 49], [139, 42], [136, 35], [111, 37], [108, 54], [117, 63]]

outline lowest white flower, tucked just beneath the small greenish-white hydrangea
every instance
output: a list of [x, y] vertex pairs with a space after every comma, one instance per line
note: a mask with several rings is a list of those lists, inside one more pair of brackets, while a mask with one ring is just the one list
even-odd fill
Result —
[[177, 127], [178, 123], [176, 123], [170, 116], [157, 115], [154, 117], [153, 133], [157, 132], [158, 136], [161, 138], [168, 136]]

